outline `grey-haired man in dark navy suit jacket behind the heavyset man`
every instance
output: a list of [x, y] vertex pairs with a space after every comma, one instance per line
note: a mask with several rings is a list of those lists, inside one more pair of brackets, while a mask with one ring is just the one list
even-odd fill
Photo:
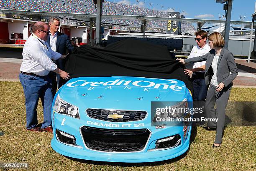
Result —
[[[55, 52], [61, 53], [61, 55], [66, 55], [67, 52], [70, 53], [73, 49], [74, 46], [70, 43], [69, 36], [60, 33], [59, 30], [59, 19], [55, 17], [50, 17], [49, 18], [49, 27], [50, 27], [50, 36], [48, 36], [48, 44], [50, 45], [51, 49], [54, 50]], [[54, 61], [54, 63], [57, 64], [58, 68], [61, 70], [64, 70], [65, 66], [65, 60], [63, 59], [58, 59], [57, 61]], [[65, 84], [66, 81], [63, 80], [59, 74], [55, 73], [50, 73], [50, 76], [52, 78], [52, 83], [53, 83], [53, 96], [56, 93], [57, 87], [60, 88], [61, 85]]]

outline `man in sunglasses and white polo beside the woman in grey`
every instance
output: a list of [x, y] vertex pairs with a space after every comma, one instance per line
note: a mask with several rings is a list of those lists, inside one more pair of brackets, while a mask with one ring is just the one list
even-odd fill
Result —
[[[195, 33], [196, 38], [195, 41], [197, 45], [195, 45], [188, 58], [194, 58], [196, 56], [205, 55], [210, 51], [210, 46], [206, 43], [207, 40], [207, 32], [205, 30], [199, 30]], [[184, 69], [186, 74], [192, 74], [192, 83], [194, 89], [194, 106], [195, 107], [202, 107], [203, 103], [205, 102], [206, 94], [207, 94], [207, 86], [205, 85], [205, 62], [197, 62], [194, 63], [193, 69]], [[197, 114], [197, 118], [203, 116]], [[200, 125], [203, 125], [201, 122]]]

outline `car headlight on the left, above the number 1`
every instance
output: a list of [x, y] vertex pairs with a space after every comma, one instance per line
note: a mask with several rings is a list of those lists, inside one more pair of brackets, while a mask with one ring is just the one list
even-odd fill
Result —
[[80, 118], [78, 107], [65, 102], [59, 97], [59, 95], [54, 103], [54, 111], [74, 118]]

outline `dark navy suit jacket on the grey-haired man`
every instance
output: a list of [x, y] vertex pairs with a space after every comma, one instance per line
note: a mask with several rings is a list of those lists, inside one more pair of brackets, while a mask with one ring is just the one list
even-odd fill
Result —
[[[51, 47], [50, 36], [48, 36], [47, 42]], [[60, 53], [61, 55], [66, 55], [67, 50], [69, 50], [69, 53], [70, 53], [72, 52], [73, 49], [74, 49], [74, 46], [72, 46], [72, 44], [70, 43], [69, 36], [64, 33], [60, 33], [58, 31], [57, 40], [56, 40], [56, 52]], [[61, 70], [64, 70], [65, 61], [66, 60], [58, 59], [56, 62], [56, 64], [58, 65], [58, 68], [60, 68]]]

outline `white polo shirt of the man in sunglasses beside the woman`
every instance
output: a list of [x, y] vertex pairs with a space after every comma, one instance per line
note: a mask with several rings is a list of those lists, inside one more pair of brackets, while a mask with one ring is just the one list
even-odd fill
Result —
[[[205, 55], [210, 50], [211, 50], [210, 46], [207, 43], [205, 44], [205, 46], [203, 48], [200, 48], [198, 45], [196, 45], [192, 48], [191, 53], [188, 56], [188, 58], [194, 58], [194, 57], [197, 57], [197, 56]], [[205, 65], [205, 63], [206, 63], [206, 61], [196, 62], [196, 63], [194, 63], [193, 68], [198, 68], [202, 65]], [[205, 71], [197, 71], [197, 72], [205, 72]]]

